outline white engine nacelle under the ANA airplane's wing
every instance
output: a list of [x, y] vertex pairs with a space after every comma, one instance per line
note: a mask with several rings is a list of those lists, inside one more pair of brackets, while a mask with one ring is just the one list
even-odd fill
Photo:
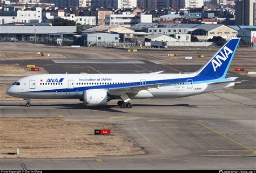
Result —
[[83, 92], [85, 106], [106, 105], [109, 102], [109, 94], [104, 89], [91, 89]]

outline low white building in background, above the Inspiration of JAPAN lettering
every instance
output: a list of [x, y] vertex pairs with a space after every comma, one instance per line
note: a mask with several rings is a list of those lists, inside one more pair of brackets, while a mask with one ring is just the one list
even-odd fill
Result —
[[77, 24], [81, 25], [96, 25], [95, 16], [75, 16], [74, 14], [66, 14], [66, 16], [59, 16], [63, 19], [76, 21]]

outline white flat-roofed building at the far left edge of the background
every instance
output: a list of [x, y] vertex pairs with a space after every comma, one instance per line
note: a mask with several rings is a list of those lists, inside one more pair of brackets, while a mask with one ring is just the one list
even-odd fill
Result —
[[[5, 14], [5, 15], [4, 15]], [[42, 9], [19, 10], [19, 11], [2, 11], [0, 16], [0, 25], [8, 23], [41, 23]]]

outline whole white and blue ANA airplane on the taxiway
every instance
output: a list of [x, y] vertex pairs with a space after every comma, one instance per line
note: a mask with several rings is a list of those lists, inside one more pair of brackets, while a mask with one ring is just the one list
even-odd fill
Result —
[[85, 106], [107, 105], [113, 99], [131, 108], [132, 99], [180, 98], [234, 86], [238, 77], [226, 78], [240, 38], [230, 39], [198, 71], [184, 74], [43, 74], [23, 77], [6, 94], [30, 99], [79, 99]]

